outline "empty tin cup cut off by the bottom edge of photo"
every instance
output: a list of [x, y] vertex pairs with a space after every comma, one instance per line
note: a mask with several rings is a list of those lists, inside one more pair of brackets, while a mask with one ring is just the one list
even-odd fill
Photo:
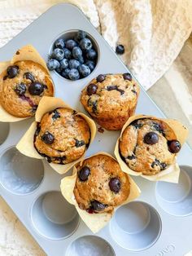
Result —
[[115, 256], [114, 249], [99, 236], [81, 236], [69, 245], [66, 256]]

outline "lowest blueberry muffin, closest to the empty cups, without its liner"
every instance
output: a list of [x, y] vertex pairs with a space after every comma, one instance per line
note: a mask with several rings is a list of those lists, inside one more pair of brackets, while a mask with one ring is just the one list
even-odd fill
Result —
[[112, 157], [98, 154], [76, 166], [74, 188], [76, 202], [89, 214], [110, 213], [127, 200], [130, 192], [128, 174]]

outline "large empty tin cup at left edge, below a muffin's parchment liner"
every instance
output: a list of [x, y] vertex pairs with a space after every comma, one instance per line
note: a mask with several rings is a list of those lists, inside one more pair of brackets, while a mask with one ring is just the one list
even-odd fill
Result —
[[8, 191], [25, 195], [37, 189], [44, 177], [41, 160], [26, 157], [15, 147], [0, 158], [0, 183]]

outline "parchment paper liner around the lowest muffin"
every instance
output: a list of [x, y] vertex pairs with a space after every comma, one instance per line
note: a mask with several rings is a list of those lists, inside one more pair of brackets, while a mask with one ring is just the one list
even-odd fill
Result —
[[[97, 154], [94, 154], [93, 156], [96, 155], [106, 155], [108, 157], [112, 157], [111, 155], [107, 154], [106, 152], [98, 152]], [[91, 157], [93, 157], [91, 156]], [[88, 157], [89, 158], [89, 157]], [[114, 157], [112, 157], [115, 159]], [[115, 159], [116, 160], [116, 159]], [[81, 161], [80, 165], [82, 164], [83, 161]], [[85, 210], [81, 210], [76, 202], [75, 196], [73, 194], [73, 189], [75, 187], [76, 183], [76, 166], [73, 167], [73, 173], [72, 176], [65, 177], [61, 180], [61, 192], [65, 199], [72, 205], [75, 205], [77, 212], [79, 213], [80, 217], [82, 220], [85, 222], [85, 224], [89, 227], [89, 229], [96, 233], [98, 232], [101, 228], [103, 228], [107, 223], [110, 221], [112, 215], [114, 214], [114, 211], [112, 213], [101, 213], [101, 214], [89, 214]], [[126, 201], [124, 201], [124, 204], [127, 204], [130, 201], [133, 201], [136, 199], [141, 191], [137, 187], [137, 184], [133, 181], [133, 179], [129, 176], [129, 183], [130, 183], [130, 194], [129, 197]], [[119, 208], [115, 207], [115, 209]]]

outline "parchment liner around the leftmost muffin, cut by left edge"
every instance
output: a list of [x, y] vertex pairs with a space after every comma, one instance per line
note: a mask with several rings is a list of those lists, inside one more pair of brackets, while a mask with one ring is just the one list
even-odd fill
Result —
[[[23, 46], [22, 48], [20, 48], [20, 50], [16, 51], [15, 55], [13, 55], [10, 61], [0, 62], [0, 73], [2, 73], [5, 69], [7, 69], [8, 66], [15, 64], [15, 62], [18, 62], [21, 60], [32, 60], [33, 62], [40, 64], [43, 68], [46, 69], [47, 77], [52, 82], [52, 85], [54, 88], [54, 95], [55, 95], [54, 83], [50, 77], [50, 72], [46, 67], [46, 62], [42, 59], [41, 55], [37, 52], [37, 50], [31, 45]], [[0, 92], [1, 90], [2, 90], [2, 87], [0, 84]], [[7, 111], [4, 108], [2, 108], [0, 103], [0, 121], [14, 122], [14, 121], [21, 121], [26, 118], [30, 118], [30, 117], [12, 116], [10, 113], [7, 113]]]

